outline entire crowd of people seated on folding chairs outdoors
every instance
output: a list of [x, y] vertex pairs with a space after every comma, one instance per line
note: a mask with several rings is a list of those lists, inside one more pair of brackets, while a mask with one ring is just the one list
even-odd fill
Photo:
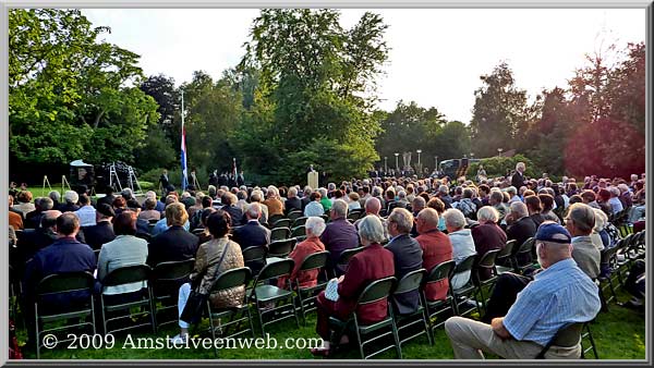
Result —
[[[583, 183], [573, 177], [553, 183], [529, 179], [523, 171], [520, 165], [520, 175], [476, 183], [447, 177], [374, 177], [328, 183], [319, 188], [210, 185], [206, 194], [170, 192], [159, 199], [148, 192], [142, 201], [129, 189], [117, 195], [108, 193], [97, 200], [73, 191], [63, 196], [52, 191], [39, 198], [22, 191], [10, 195], [9, 224], [15, 234], [13, 243], [10, 240], [10, 261], [23, 275], [23, 310], [28, 314], [35, 285], [48, 274], [97, 270], [101, 284], [108, 272], [122, 266], [155, 267], [194, 258], [190, 282], [179, 290], [181, 314], [192, 286], [206, 289], [211, 278], [243, 267], [245, 248], [268, 247], [271, 243], [275, 223], [270, 220], [300, 212], [307, 218], [305, 237], [289, 255], [295, 261], [289, 278], [303, 287], [315, 285], [318, 272], [301, 272], [299, 266], [313, 253], [329, 252], [327, 273], [338, 278], [339, 299], [334, 302], [319, 294], [316, 302], [316, 331], [328, 341], [329, 316], [347, 318], [356, 312], [363, 322], [386, 317], [386, 300], [356, 307], [359, 293], [370, 282], [385, 277], [399, 280], [411, 271], [429, 271], [449, 260], [459, 265], [475, 255], [480, 259], [492, 249], [502, 249], [508, 241], [519, 246], [533, 237], [542, 270], [528, 278], [500, 275], [481, 322], [456, 318], [446, 324], [457, 358], [480, 357], [479, 351], [523, 357], [542, 346], [570, 318], [594, 317], [596, 300], [591, 294], [595, 293], [594, 280], [604, 272], [601, 252], [615, 246], [620, 237], [610, 219], [627, 213], [625, 221], [637, 225], [645, 214], [644, 174], [632, 176], [631, 182], [588, 176]], [[362, 213], [359, 219], [350, 219], [352, 211]], [[344, 250], [358, 247], [363, 250], [347, 266], [339, 263]], [[227, 260], [218, 265], [222, 252], [227, 252]], [[256, 273], [265, 261], [247, 266]], [[544, 280], [564, 271], [569, 274], [557, 290], [543, 285]], [[480, 274], [481, 280], [491, 277], [488, 270]], [[447, 280], [429, 284], [425, 295], [429, 300], [444, 299], [448, 287], [459, 289], [470, 278], [468, 271], [457, 274], [451, 284]], [[286, 279], [277, 280], [277, 284], [287, 285]], [[117, 298], [138, 296], [142, 286], [107, 287], [104, 293]], [[244, 289], [237, 289], [211, 295], [213, 305], [225, 307], [242, 299], [238, 296]], [[584, 297], [573, 300], [566, 314], [546, 312], [557, 308], [547, 303], [567, 298], [570, 293]], [[74, 300], [69, 298], [60, 306]], [[388, 303], [398, 314], [408, 314], [417, 308], [419, 294], [405, 293]], [[536, 320], [528, 327], [524, 315], [530, 309], [545, 311], [529, 316]], [[184, 342], [189, 323], [180, 320], [179, 327], [181, 333], [173, 340]], [[33, 342], [32, 331], [29, 339]], [[341, 342], [349, 339], [346, 335]], [[497, 348], [507, 339], [518, 343]], [[326, 344], [313, 353], [328, 355], [329, 347]]]

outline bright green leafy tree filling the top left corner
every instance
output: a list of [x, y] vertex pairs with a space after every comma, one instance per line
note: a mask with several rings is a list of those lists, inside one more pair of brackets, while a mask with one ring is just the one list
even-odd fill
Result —
[[78, 10], [9, 14], [12, 162], [131, 161], [158, 119], [154, 99], [131, 86], [138, 56], [98, 41], [109, 28]]

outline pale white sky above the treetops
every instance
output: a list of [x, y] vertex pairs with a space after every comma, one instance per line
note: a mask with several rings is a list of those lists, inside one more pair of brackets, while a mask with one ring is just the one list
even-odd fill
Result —
[[[351, 27], [366, 10], [341, 10]], [[378, 107], [399, 100], [436, 107], [448, 120], [469, 123], [481, 75], [506, 61], [530, 100], [544, 88], [565, 87], [585, 54], [645, 40], [644, 9], [372, 9], [389, 25]], [[102, 38], [141, 56], [146, 75], [175, 85], [194, 71], [215, 79], [244, 53], [256, 9], [86, 9]]]

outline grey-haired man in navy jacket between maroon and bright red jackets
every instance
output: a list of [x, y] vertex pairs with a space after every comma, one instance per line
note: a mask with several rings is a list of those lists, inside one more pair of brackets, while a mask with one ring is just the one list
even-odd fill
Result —
[[[387, 220], [388, 234], [391, 237], [386, 249], [390, 250], [395, 259], [396, 279], [401, 280], [407, 273], [422, 268], [422, 247], [416, 240], [409, 236], [413, 226], [413, 216], [404, 208], [392, 210]], [[420, 293], [417, 290], [396, 295], [393, 305], [400, 315], [413, 312], [417, 309]]]

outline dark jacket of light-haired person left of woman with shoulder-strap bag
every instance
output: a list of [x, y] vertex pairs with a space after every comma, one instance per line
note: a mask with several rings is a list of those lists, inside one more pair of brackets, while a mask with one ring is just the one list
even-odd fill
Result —
[[182, 226], [170, 226], [153, 237], [148, 245], [147, 263], [155, 267], [160, 262], [171, 262], [195, 258], [199, 240]]

